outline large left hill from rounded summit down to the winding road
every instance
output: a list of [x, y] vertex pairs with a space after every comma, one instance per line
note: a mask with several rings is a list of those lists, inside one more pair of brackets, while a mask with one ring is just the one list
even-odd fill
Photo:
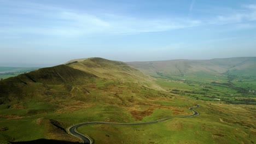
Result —
[[[84, 118], [133, 121], [131, 113], [126, 110], [130, 109], [131, 105], [151, 105], [153, 99], [166, 97], [166, 93], [156, 91], [161, 88], [148, 77], [123, 62], [89, 58], [2, 80], [0, 128], [4, 132], [0, 131], [0, 141], [77, 141], [69, 136], [65, 129], [72, 123], [84, 122]], [[90, 110], [91, 106], [95, 108]], [[102, 111], [102, 106], [109, 106], [110, 112]], [[125, 109], [122, 111], [127, 116], [123, 116], [123, 112], [115, 112], [115, 109]], [[84, 114], [79, 114], [79, 110], [90, 114], [84, 117]], [[61, 113], [72, 113], [76, 119], [71, 118], [70, 114]], [[11, 123], [12, 121], [15, 121], [15, 124]], [[62, 123], [62, 126], [56, 126], [55, 123]], [[24, 131], [31, 127], [34, 129]], [[39, 132], [30, 134], [29, 131], [33, 130]], [[16, 132], [17, 134], [13, 135]]]

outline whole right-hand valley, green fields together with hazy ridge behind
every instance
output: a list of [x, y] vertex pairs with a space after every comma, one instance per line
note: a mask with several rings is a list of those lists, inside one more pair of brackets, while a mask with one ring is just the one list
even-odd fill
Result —
[[158, 84], [172, 94], [227, 104], [255, 105], [255, 61], [254, 57], [248, 57], [130, 64], [158, 79]]

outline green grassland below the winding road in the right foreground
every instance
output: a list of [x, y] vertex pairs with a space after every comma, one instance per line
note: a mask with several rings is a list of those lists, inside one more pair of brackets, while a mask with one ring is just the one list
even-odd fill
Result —
[[[200, 104], [198, 117], [173, 118], [150, 125], [84, 125], [78, 130], [91, 136], [95, 143], [255, 142], [255, 125], [252, 124], [255, 111], [251, 110], [252, 106], [248, 109], [240, 105], [234, 109], [234, 106], [225, 104]], [[246, 115], [234, 115], [237, 112], [246, 112]], [[152, 116], [158, 113], [154, 111]]]

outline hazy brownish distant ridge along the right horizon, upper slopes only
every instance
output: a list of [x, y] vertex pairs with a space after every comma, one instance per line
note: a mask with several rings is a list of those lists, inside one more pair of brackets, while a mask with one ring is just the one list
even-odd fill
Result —
[[198, 71], [212, 75], [226, 72], [239, 74], [242, 71], [256, 72], [256, 57], [219, 58], [210, 60], [186, 60], [152, 62], [128, 62], [132, 67], [148, 73], [158, 75], [164, 73], [169, 76], [183, 76]]

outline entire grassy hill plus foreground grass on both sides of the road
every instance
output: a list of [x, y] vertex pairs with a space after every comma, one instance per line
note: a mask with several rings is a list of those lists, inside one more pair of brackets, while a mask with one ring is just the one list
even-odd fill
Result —
[[[0, 142], [76, 143], [79, 139], [66, 132], [73, 124], [148, 122], [191, 115], [188, 108], [195, 104], [201, 107], [194, 118], [132, 127], [88, 125], [78, 130], [95, 143], [256, 142], [255, 106], [234, 108], [218, 100], [196, 100], [184, 91], [205, 92], [201, 84], [160, 77], [145, 75], [123, 62], [87, 58], [2, 80]], [[214, 85], [208, 89], [221, 95], [220, 84]], [[229, 87], [225, 91], [236, 93]]]

